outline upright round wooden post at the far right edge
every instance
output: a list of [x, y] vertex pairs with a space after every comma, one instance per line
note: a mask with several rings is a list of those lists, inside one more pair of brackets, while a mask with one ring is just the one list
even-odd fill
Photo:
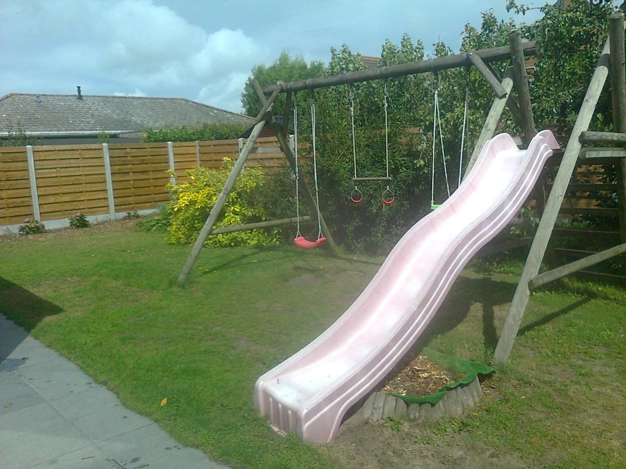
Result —
[[[613, 13], [608, 17], [609, 41], [611, 43], [611, 102], [613, 129], [626, 132], [626, 68], [624, 57], [624, 14]], [[617, 169], [617, 203], [620, 209], [620, 233], [626, 243], [626, 159], [615, 162]]]

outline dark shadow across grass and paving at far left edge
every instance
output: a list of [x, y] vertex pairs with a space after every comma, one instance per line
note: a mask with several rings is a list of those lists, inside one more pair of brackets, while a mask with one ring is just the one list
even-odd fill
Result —
[[[0, 371], [9, 371], [21, 365], [23, 359], [7, 357], [26, 339], [29, 331], [39, 321], [63, 311], [61, 306], [0, 277]], [[5, 320], [2, 315], [13, 320], [17, 326]]]

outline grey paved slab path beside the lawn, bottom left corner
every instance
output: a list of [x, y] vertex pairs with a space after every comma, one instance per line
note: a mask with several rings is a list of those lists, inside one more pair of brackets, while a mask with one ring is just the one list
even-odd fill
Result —
[[215, 469], [0, 315], [0, 468]]

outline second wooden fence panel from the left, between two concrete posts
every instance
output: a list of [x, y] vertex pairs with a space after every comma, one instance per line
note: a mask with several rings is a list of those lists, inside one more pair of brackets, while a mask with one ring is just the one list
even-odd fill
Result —
[[42, 221], [108, 213], [102, 146], [34, 146]]

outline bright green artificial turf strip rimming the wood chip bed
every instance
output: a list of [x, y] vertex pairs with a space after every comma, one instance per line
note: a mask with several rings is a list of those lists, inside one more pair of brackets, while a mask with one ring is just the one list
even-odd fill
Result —
[[476, 376], [491, 375], [491, 373], [496, 371], [495, 368], [491, 368], [491, 366], [487, 366], [483, 363], [478, 363], [478, 361], [464, 360], [463, 358], [445, 355], [444, 353], [431, 350], [430, 348], [424, 348], [421, 355], [427, 356], [429, 360], [433, 361], [433, 363], [436, 363], [442, 368], [454, 370], [456, 371], [456, 373], [464, 373], [464, 375], [458, 381], [453, 381], [452, 383], [443, 386], [436, 393], [430, 394], [428, 396], [414, 397], [403, 396], [400, 394], [392, 394], [392, 396], [396, 396], [397, 398], [402, 399], [408, 405], [425, 403], [435, 405], [443, 398], [443, 396], [446, 395], [446, 391], [451, 391], [454, 388], [458, 388], [459, 386], [467, 386], [476, 379]]

